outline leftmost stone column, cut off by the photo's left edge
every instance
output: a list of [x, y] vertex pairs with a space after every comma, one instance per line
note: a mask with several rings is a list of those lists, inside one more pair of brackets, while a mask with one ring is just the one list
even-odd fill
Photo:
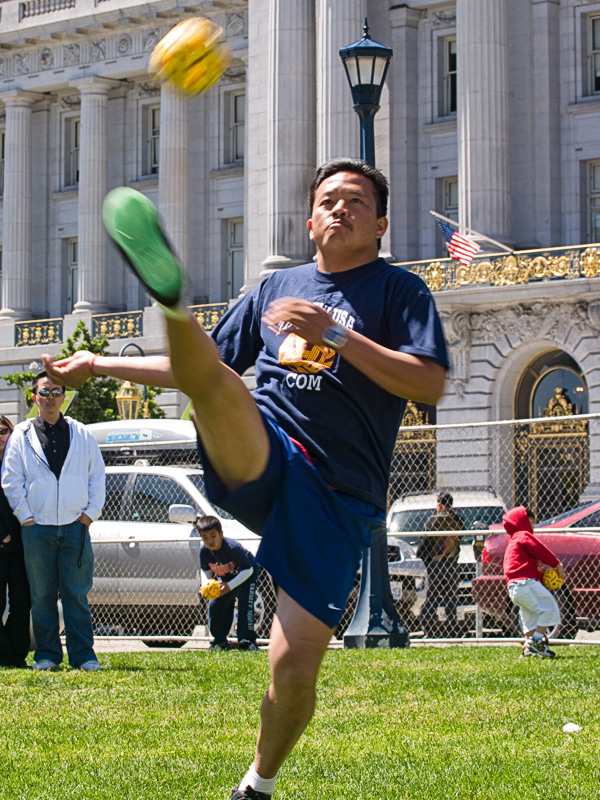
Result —
[[42, 98], [19, 90], [0, 95], [6, 109], [2, 319], [31, 317], [31, 106]]

